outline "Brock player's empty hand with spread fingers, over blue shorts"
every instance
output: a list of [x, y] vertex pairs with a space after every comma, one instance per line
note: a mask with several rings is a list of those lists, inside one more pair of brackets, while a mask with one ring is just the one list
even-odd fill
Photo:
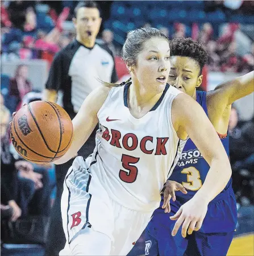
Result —
[[206, 216], [207, 205], [207, 201], [195, 197], [183, 204], [177, 213], [170, 217], [170, 220], [177, 220], [172, 230], [172, 236], [176, 236], [181, 225], [182, 237], [186, 237], [187, 231], [188, 234], [192, 234], [193, 230], [199, 230]]

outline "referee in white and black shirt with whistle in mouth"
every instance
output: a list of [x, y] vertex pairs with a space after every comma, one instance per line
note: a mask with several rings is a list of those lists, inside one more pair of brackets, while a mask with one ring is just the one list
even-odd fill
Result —
[[[113, 53], [106, 46], [95, 43], [102, 21], [97, 3], [80, 2], [74, 14], [76, 39], [55, 55], [43, 92], [43, 99], [47, 101], [56, 102], [57, 96], [61, 96], [61, 105], [72, 119], [86, 96], [102, 86], [97, 79], [106, 82], [118, 80]], [[78, 155], [86, 158], [93, 152], [97, 129], [98, 126], [78, 151]], [[65, 245], [60, 203], [64, 178], [72, 162], [73, 159], [56, 165], [57, 195], [51, 212], [46, 256], [58, 256]]]

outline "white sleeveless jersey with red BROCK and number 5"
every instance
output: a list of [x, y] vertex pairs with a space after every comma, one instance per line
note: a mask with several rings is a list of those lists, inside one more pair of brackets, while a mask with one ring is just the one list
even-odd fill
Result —
[[185, 144], [171, 119], [179, 93], [166, 85], [156, 105], [137, 119], [127, 106], [128, 86], [116, 87], [98, 112], [100, 130], [93, 156], [87, 159], [89, 172], [124, 207], [142, 212], [159, 207], [160, 192]]

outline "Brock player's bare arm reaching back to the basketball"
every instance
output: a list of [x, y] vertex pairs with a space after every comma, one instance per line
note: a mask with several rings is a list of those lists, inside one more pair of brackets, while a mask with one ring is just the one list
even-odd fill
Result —
[[90, 137], [98, 123], [97, 113], [105, 102], [111, 88], [100, 86], [84, 100], [76, 117], [73, 118], [73, 139], [69, 150], [55, 164], [63, 164], [73, 158]]

